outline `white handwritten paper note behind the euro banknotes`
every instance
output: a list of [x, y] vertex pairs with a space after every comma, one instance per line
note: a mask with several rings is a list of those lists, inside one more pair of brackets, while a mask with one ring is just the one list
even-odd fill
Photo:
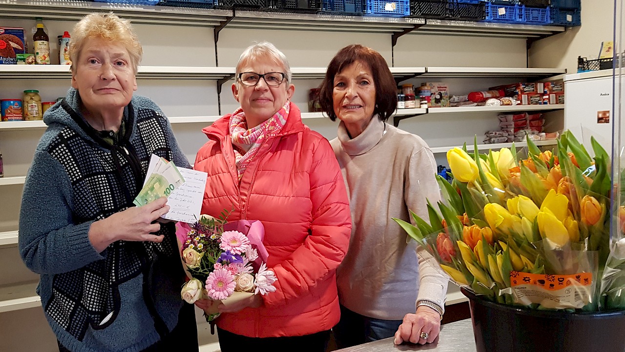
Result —
[[[153, 169], [153, 161], [158, 160], [156, 155], [152, 155], [152, 158], [156, 159], [150, 160], [148, 175], [151, 169]], [[167, 205], [171, 209], [169, 209], [167, 214], [163, 215], [163, 218], [192, 224], [199, 219], [208, 174], [183, 167], [179, 167], [178, 171], [184, 177], [184, 184], [174, 189], [169, 195]]]

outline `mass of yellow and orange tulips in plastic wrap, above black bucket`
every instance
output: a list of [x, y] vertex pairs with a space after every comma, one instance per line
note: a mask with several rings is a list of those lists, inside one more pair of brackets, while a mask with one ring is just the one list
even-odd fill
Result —
[[609, 155], [592, 138], [591, 157], [570, 132], [555, 150], [527, 145], [449, 150], [454, 181], [438, 178], [444, 202], [427, 205], [429, 219], [412, 213], [415, 225], [395, 220], [431, 264], [497, 303], [622, 308], [625, 247], [610, 246]]

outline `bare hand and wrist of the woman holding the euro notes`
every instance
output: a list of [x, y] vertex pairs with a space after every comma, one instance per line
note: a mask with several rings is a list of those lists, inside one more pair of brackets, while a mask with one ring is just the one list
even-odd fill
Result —
[[143, 207], [131, 207], [117, 212], [91, 224], [89, 241], [98, 252], [119, 240], [161, 242], [163, 235], [156, 236], [151, 232], [161, 229], [160, 224], [153, 222], [167, 212], [169, 205], [166, 197], [156, 199]]

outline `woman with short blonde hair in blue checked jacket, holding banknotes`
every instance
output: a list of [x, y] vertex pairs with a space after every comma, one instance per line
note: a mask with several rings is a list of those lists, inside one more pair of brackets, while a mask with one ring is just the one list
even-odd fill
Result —
[[141, 44], [128, 21], [89, 14], [70, 47], [72, 88], [24, 184], [19, 250], [59, 351], [197, 351], [194, 308], [166, 198], [135, 207], [151, 155], [189, 162], [163, 111], [134, 95]]

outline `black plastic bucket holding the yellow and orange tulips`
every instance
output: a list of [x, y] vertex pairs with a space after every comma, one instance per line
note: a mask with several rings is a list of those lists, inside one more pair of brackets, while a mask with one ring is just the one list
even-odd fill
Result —
[[625, 311], [538, 311], [461, 291], [469, 298], [477, 352], [625, 351]]

